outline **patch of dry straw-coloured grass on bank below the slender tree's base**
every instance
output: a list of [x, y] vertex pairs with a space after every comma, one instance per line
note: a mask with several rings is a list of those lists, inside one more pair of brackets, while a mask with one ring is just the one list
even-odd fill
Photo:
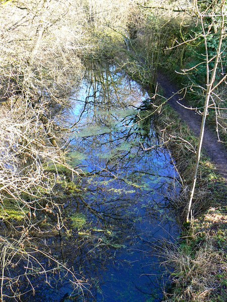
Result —
[[168, 244], [163, 264], [171, 267], [173, 288], [166, 301], [225, 301], [226, 298], [226, 212], [210, 208], [194, 220], [191, 235], [179, 246]]

